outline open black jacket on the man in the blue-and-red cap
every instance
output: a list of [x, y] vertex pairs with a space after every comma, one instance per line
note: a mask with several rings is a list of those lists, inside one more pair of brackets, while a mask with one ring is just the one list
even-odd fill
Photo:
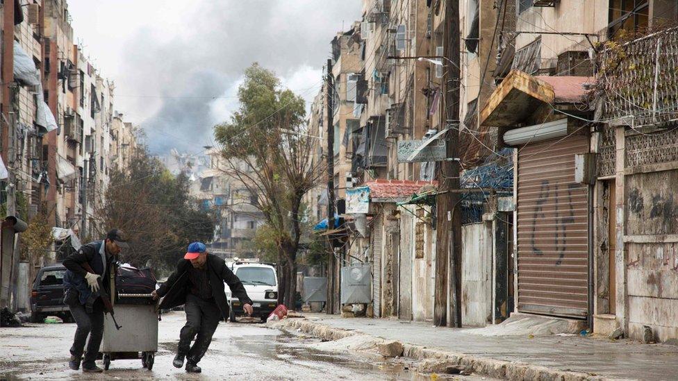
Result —
[[[165, 297], [160, 302], [159, 308], [169, 309], [178, 305], [183, 305], [186, 302], [186, 294], [190, 289], [190, 281], [188, 280], [188, 272], [192, 264], [189, 260], [179, 260], [176, 264], [176, 270], [172, 273], [167, 282], [158, 288], [158, 296]], [[252, 300], [247, 296], [245, 286], [242, 285], [240, 279], [226, 266], [226, 262], [220, 257], [212, 254], [207, 255], [207, 272], [210, 286], [212, 287], [212, 296], [222, 312], [224, 320], [229, 318], [229, 300], [226, 299], [224, 292], [224, 282], [231, 288], [233, 295], [240, 299], [240, 303], [252, 304]]]

